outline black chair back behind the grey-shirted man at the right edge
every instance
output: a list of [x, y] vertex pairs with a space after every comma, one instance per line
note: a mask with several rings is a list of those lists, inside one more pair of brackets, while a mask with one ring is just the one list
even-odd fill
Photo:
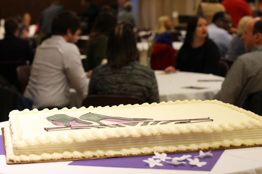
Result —
[[262, 91], [249, 94], [242, 108], [262, 116]]

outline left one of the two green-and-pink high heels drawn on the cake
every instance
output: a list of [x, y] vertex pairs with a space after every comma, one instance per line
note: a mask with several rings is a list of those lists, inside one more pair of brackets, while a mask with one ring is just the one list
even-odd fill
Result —
[[57, 126], [78, 126], [93, 124], [91, 122], [85, 122], [75, 117], [70, 117], [64, 114], [56, 114], [50, 117], [47, 117], [47, 120]]

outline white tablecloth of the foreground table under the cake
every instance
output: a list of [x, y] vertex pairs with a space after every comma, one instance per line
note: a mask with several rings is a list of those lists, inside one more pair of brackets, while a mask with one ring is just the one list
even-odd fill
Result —
[[[0, 128], [7, 122], [0, 122]], [[0, 135], [2, 133], [0, 132]], [[225, 150], [211, 171], [186, 171], [186, 170], [166, 170], [166, 169], [143, 169], [143, 168], [120, 168], [120, 167], [98, 167], [98, 166], [76, 166], [68, 165], [67, 162], [48, 162], [31, 164], [6, 164], [5, 155], [0, 155], [0, 173], [26, 173], [26, 174], [71, 174], [71, 173], [114, 173], [114, 174], [158, 174], [158, 173], [180, 173], [180, 174], [260, 174], [262, 147], [239, 148]], [[112, 159], [113, 160], [113, 159]]]

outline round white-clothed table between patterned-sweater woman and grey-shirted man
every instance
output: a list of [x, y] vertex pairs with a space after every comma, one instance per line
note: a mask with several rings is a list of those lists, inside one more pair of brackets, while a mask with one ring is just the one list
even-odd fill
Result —
[[178, 71], [164, 74], [155, 71], [160, 102], [176, 100], [212, 100], [221, 89], [224, 77]]

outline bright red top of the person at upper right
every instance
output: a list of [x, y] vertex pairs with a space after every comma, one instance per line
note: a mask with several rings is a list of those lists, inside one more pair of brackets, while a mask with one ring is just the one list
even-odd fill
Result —
[[245, 0], [223, 0], [222, 5], [231, 16], [233, 26], [238, 28], [238, 21], [243, 16], [252, 16], [252, 12]]

